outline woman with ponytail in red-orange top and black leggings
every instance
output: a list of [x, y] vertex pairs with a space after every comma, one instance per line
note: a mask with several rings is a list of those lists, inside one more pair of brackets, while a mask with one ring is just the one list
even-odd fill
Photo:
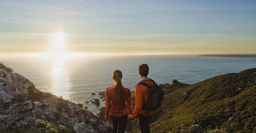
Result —
[[132, 114], [131, 92], [122, 86], [120, 70], [113, 72], [112, 79], [115, 84], [106, 89], [105, 120], [110, 117], [114, 133], [124, 133], [127, 123], [127, 108], [130, 115]]

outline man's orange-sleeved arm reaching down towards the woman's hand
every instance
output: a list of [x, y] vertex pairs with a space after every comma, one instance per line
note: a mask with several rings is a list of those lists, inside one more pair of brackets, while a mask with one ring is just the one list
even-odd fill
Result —
[[137, 85], [135, 87], [135, 105], [136, 106], [134, 108], [134, 112], [131, 115], [131, 118], [135, 118], [139, 114], [143, 106], [143, 99], [144, 99], [143, 92], [140, 90], [140, 85]]

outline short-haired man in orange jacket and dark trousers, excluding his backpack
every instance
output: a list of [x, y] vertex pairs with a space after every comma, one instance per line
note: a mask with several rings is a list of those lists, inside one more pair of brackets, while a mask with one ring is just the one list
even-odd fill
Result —
[[[148, 85], [152, 86], [152, 81], [147, 77], [148, 75], [148, 65], [140, 64], [139, 67], [139, 75], [141, 78], [140, 82], [144, 82]], [[139, 126], [141, 133], [150, 133], [149, 122], [154, 113], [154, 111], [142, 110], [142, 106], [146, 103], [149, 96], [150, 88], [144, 85], [137, 85], [135, 87], [135, 108], [134, 112], [130, 117], [131, 120], [134, 120], [135, 117], [139, 119]]]

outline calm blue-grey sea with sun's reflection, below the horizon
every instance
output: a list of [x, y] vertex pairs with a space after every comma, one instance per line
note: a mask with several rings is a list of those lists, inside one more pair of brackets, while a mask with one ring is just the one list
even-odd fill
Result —
[[[148, 76], [158, 84], [172, 83], [174, 79], [194, 84], [216, 75], [256, 67], [256, 58], [195, 56], [0, 57], [0, 61], [32, 81], [37, 89], [82, 103], [94, 114], [105, 106], [105, 102], [100, 99], [100, 106], [90, 102], [85, 105], [85, 102], [99, 99], [98, 93], [114, 84], [111, 76], [115, 69], [122, 71], [123, 85], [134, 91], [134, 86], [140, 80], [137, 66], [141, 63], [148, 64]], [[93, 92], [96, 95], [91, 95]]]

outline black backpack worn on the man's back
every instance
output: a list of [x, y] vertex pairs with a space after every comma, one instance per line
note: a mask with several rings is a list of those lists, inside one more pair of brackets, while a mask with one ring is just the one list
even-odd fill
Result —
[[142, 106], [141, 108], [142, 110], [153, 111], [162, 106], [163, 94], [164, 94], [163, 89], [162, 87], [157, 85], [154, 80], [151, 79], [151, 81], [153, 86], [148, 85], [147, 83], [144, 83], [144, 82], [139, 82], [137, 84], [137, 85], [144, 85], [150, 88], [147, 104], [144, 104]]

